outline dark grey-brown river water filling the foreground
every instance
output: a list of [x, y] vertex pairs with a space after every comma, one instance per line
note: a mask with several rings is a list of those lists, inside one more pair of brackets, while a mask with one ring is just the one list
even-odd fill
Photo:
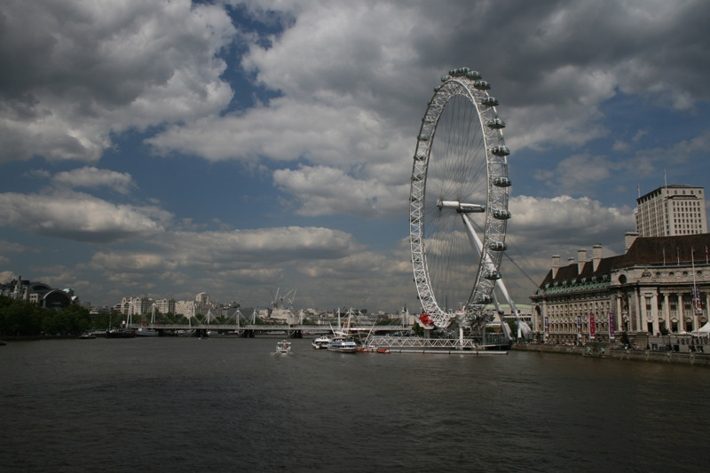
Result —
[[0, 348], [0, 471], [706, 471], [710, 370], [275, 338]]

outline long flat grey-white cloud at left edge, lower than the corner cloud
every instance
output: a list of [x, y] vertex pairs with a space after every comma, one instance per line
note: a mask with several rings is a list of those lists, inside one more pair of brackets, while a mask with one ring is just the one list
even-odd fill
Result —
[[83, 193], [0, 193], [0, 221], [55, 238], [107, 243], [163, 230], [170, 214], [154, 207], [114, 204]]

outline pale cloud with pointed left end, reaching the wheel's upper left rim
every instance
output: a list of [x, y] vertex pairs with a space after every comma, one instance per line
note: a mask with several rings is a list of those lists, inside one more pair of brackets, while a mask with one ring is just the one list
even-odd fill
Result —
[[[423, 113], [423, 112], [422, 112]], [[210, 161], [307, 160], [348, 167], [354, 162], [392, 162], [414, 140], [390, 135], [387, 123], [359, 106], [326, 106], [293, 99], [272, 99], [225, 117], [201, 118], [191, 126], [174, 125], [146, 143], [158, 154], [178, 151]], [[408, 153], [408, 150], [407, 150]]]

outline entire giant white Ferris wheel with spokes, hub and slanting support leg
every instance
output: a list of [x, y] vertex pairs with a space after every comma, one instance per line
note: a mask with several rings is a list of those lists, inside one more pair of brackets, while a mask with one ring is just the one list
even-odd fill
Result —
[[[409, 195], [414, 283], [430, 327], [485, 322], [507, 248], [508, 155], [490, 84], [468, 67], [435, 89], [417, 137]], [[496, 301], [497, 305], [497, 301]]]

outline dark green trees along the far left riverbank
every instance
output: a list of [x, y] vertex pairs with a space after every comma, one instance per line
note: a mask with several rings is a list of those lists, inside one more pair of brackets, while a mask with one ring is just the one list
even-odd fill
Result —
[[89, 327], [89, 310], [81, 305], [46, 309], [28, 301], [0, 296], [0, 335], [79, 335]]

